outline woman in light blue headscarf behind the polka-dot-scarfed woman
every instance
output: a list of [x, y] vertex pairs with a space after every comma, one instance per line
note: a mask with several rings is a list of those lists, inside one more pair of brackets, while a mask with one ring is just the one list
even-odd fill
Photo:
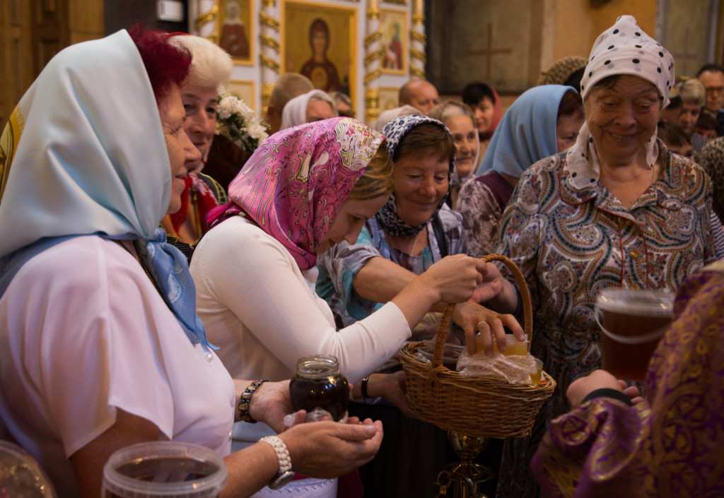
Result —
[[583, 122], [583, 103], [573, 87], [536, 86], [515, 99], [478, 169], [485, 173], [463, 185], [455, 204], [468, 234], [468, 255], [494, 252], [502, 212], [518, 178], [540, 159], [571, 147]]

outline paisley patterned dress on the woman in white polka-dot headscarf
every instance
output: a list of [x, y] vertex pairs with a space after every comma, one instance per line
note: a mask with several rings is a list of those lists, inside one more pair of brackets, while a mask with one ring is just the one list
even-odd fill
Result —
[[[521, 177], [501, 224], [498, 252], [523, 271], [531, 290], [531, 353], [558, 383], [533, 436], [508, 442], [498, 496], [534, 496], [529, 461], [548, 421], [568, 411], [571, 381], [600, 367], [594, 303], [606, 287], [675, 292], [715, 261], [712, 184], [694, 162], [670, 154], [661, 176], [630, 209], [602, 183], [578, 189], [565, 153], [538, 161]], [[510, 272], [501, 267], [510, 278]], [[524, 477], [524, 476], [527, 476]], [[529, 492], [534, 491], [534, 492]]]

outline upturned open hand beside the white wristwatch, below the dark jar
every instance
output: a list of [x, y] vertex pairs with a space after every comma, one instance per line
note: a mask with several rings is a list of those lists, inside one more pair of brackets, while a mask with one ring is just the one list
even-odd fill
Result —
[[382, 422], [311, 422], [280, 434], [292, 469], [316, 478], [335, 478], [368, 463], [382, 443]]

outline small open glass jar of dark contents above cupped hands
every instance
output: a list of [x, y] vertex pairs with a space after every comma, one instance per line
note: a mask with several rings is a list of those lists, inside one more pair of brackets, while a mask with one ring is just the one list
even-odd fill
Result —
[[295, 410], [327, 410], [334, 421], [347, 413], [350, 388], [332, 355], [305, 356], [297, 361], [297, 373], [289, 384]]

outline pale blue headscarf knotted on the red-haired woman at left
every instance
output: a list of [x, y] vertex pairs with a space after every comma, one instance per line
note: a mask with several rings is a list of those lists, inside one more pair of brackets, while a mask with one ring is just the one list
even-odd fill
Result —
[[156, 98], [123, 30], [65, 48], [0, 138], [0, 278], [78, 235], [135, 240], [193, 343], [209, 345], [185, 257], [159, 228], [171, 168]]

